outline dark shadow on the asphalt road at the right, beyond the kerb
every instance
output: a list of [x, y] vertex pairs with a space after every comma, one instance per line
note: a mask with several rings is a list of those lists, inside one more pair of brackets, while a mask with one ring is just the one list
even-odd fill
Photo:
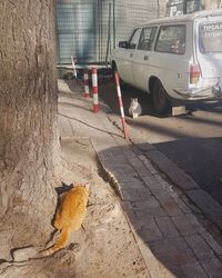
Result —
[[222, 137], [183, 138], [153, 145], [222, 205]]

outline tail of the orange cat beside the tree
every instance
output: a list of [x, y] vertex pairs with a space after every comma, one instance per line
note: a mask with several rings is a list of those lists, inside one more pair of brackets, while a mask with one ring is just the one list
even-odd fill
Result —
[[40, 254], [46, 257], [64, 248], [69, 241], [69, 237], [70, 237], [70, 229], [63, 228], [58, 240], [54, 242], [54, 245], [48, 249], [40, 251]]

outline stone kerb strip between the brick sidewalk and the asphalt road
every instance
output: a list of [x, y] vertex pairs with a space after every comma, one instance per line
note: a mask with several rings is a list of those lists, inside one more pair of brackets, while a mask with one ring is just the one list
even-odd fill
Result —
[[[108, 119], [121, 130], [120, 120], [115, 115], [110, 113]], [[185, 171], [180, 169], [154, 146], [138, 138], [135, 135], [129, 136], [129, 138], [222, 231], [222, 205], [215, 201], [209, 192], [202, 190]]]

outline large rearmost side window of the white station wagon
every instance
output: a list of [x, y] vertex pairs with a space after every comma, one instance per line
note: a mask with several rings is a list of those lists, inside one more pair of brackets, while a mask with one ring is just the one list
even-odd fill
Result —
[[155, 51], [184, 54], [185, 26], [162, 26], [159, 31]]

